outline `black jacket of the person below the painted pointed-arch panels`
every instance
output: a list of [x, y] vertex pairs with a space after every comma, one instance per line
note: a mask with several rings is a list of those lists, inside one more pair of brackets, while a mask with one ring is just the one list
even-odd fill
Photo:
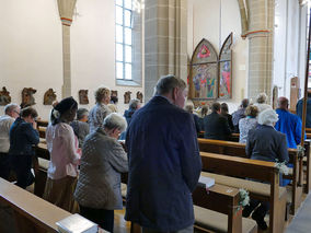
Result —
[[227, 140], [231, 130], [226, 117], [211, 113], [204, 117], [204, 138]]

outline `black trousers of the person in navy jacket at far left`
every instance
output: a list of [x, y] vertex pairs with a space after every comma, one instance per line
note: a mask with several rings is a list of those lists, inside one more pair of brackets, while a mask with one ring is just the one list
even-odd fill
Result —
[[26, 188], [32, 185], [35, 180], [32, 174], [32, 161], [33, 155], [20, 154], [12, 155], [12, 167], [18, 176], [16, 185], [21, 188]]

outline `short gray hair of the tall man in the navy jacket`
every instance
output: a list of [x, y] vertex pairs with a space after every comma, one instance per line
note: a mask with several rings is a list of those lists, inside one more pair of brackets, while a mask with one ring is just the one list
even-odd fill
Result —
[[176, 78], [173, 74], [161, 77], [156, 85], [156, 95], [164, 95], [173, 91], [173, 89], [185, 89], [186, 83], [181, 78]]

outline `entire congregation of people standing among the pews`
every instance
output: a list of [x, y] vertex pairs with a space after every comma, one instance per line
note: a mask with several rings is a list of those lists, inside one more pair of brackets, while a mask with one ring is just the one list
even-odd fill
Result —
[[[232, 132], [240, 132], [239, 142], [246, 144], [250, 159], [270, 162], [287, 163], [287, 149], [301, 141], [301, 101], [298, 116], [289, 113], [286, 97], [278, 98], [274, 110], [265, 93], [258, 94], [255, 104], [244, 98], [232, 115], [227, 103], [218, 102], [197, 114], [193, 103], [185, 106], [186, 83], [174, 75], [158, 81], [154, 96], [143, 107], [139, 100], [131, 100], [124, 116], [115, 113], [117, 101], [111, 104], [110, 89], [101, 86], [94, 96], [90, 112], [78, 109], [72, 97], [51, 109], [44, 199], [79, 211], [110, 232], [114, 210], [123, 209], [120, 174], [127, 172], [126, 220], [141, 225], [145, 233], [193, 232], [192, 191], [201, 171], [197, 143], [201, 132], [214, 140], [230, 140]], [[0, 117], [0, 177], [10, 180], [15, 173], [21, 188], [35, 180], [37, 116], [33, 107], [9, 104]], [[252, 215], [265, 230], [268, 210], [267, 202], [252, 199], [243, 217]]]

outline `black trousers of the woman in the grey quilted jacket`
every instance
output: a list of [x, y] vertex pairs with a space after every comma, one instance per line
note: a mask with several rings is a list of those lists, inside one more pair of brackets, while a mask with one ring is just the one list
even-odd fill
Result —
[[102, 229], [114, 232], [114, 210], [93, 209], [81, 205], [79, 207], [81, 215], [97, 223]]

